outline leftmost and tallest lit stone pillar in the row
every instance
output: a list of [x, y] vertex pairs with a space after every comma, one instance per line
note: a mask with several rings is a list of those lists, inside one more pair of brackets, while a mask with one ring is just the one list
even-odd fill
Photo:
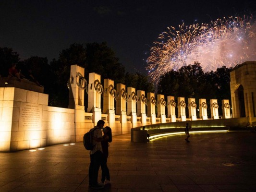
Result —
[[[84, 89], [87, 86], [87, 82], [84, 78], [85, 69], [78, 65], [71, 65], [70, 68], [70, 79], [68, 82], [69, 86], [69, 106], [68, 108], [75, 108], [75, 106], [85, 106], [84, 98], [85, 91]], [[85, 107], [83, 108], [85, 110]]]

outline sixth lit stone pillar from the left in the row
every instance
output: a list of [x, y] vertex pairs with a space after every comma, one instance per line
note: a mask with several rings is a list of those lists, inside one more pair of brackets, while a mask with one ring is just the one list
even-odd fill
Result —
[[138, 102], [137, 102], [137, 116], [141, 117], [142, 126], [146, 125], [146, 103], [147, 99], [145, 96], [145, 91], [138, 90]]

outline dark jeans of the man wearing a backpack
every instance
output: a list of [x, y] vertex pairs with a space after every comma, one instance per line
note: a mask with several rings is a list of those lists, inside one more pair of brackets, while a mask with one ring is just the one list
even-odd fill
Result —
[[98, 185], [98, 169], [102, 159], [101, 151], [96, 151], [90, 155], [91, 163], [89, 167], [89, 185]]

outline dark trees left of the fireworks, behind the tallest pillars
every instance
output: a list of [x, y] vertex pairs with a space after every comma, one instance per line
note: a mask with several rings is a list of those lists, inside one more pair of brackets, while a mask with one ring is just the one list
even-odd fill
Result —
[[[12, 48], [0, 48], [0, 76], [6, 77], [12, 63], [26, 76], [31, 69], [38, 82], [44, 85], [44, 93], [49, 95], [49, 106], [68, 107], [69, 90], [67, 81], [70, 77], [70, 66], [77, 64], [85, 68], [85, 79], [88, 80], [90, 72], [101, 75], [101, 83], [108, 78], [114, 83], [132, 86], [136, 90], [154, 92], [154, 87], [149, 83], [146, 75], [141, 73], [125, 72], [124, 66], [115, 56], [115, 52], [107, 46], [107, 43], [86, 43], [70, 45], [63, 49], [58, 59], [49, 61], [47, 58], [33, 56], [26, 60], [20, 60], [19, 54]], [[85, 94], [85, 100], [87, 95]], [[87, 103], [85, 102], [85, 105]], [[86, 108], [87, 106], [85, 106]]]

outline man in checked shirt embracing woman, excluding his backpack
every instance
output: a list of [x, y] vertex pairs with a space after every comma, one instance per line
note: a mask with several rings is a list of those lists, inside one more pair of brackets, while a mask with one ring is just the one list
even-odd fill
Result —
[[89, 187], [93, 189], [102, 189], [103, 185], [98, 185], [98, 170], [102, 161], [102, 132], [104, 120], [99, 120], [97, 125], [90, 130], [93, 132], [93, 150], [90, 150], [90, 166], [89, 166]]

